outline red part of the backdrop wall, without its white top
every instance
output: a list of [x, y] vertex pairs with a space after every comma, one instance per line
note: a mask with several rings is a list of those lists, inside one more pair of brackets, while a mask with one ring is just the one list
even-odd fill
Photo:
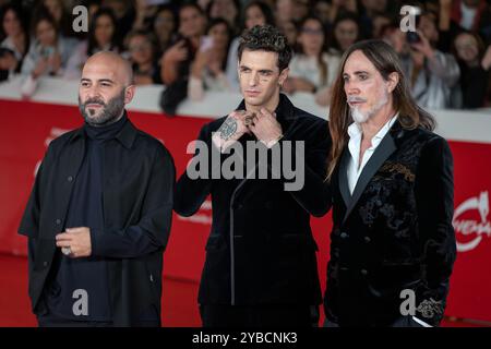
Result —
[[[73, 106], [0, 100], [0, 252], [25, 255], [26, 241], [16, 234], [19, 221], [32, 189], [35, 170], [49, 142], [82, 123]], [[189, 142], [209, 119], [167, 118], [130, 112], [135, 125], [161, 140], [172, 154], [178, 176], [190, 155]], [[459, 252], [452, 276], [446, 314], [491, 321], [491, 144], [453, 142], [455, 161], [455, 207]], [[191, 218], [173, 216], [165, 252], [166, 276], [199, 280], [204, 263], [204, 244], [209, 231], [211, 207]], [[313, 218], [322, 285], [328, 261], [331, 215]]]

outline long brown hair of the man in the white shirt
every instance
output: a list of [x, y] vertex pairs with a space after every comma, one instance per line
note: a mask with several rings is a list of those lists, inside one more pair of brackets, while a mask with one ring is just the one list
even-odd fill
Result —
[[399, 75], [399, 82], [392, 92], [392, 97], [393, 107], [399, 113], [398, 122], [404, 129], [412, 130], [421, 127], [432, 131], [435, 127], [434, 118], [421, 109], [412, 98], [399, 58], [392, 46], [382, 40], [363, 40], [354, 44], [343, 55], [339, 71], [333, 85], [330, 106], [330, 132], [333, 146], [328, 156], [327, 180], [331, 180], [334, 169], [339, 163], [343, 151], [348, 143], [348, 127], [352, 123], [349, 106], [346, 101], [343, 72], [346, 60], [355, 51], [361, 51], [385, 81], [388, 80], [391, 73], [395, 72]]

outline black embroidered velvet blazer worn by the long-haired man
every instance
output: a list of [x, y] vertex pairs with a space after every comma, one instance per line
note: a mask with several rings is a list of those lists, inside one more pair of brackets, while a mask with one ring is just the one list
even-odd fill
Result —
[[[416, 316], [438, 325], [456, 256], [453, 159], [446, 141], [396, 121], [363, 168], [351, 196], [345, 148], [333, 173], [333, 231], [326, 317], [340, 325], [388, 326], [400, 291]], [[406, 298], [405, 298], [406, 299]]]

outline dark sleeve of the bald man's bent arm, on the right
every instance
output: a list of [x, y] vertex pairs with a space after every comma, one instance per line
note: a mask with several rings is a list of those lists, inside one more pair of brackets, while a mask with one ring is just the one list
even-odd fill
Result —
[[171, 155], [158, 146], [148, 178], [141, 219], [125, 229], [91, 232], [92, 254], [131, 258], [165, 249], [172, 219], [176, 170]]

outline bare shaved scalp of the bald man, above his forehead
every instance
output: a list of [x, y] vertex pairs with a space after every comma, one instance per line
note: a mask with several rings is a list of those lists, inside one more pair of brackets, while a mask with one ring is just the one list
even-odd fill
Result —
[[85, 62], [82, 76], [86, 69], [106, 70], [107, 73], [119, 79], [124, 86], [133, 83], [133, 70], [131, 69], [130, 62], [120, 55], [111, 51], [100, 51], [91, 56]]

